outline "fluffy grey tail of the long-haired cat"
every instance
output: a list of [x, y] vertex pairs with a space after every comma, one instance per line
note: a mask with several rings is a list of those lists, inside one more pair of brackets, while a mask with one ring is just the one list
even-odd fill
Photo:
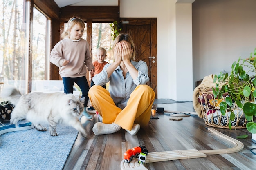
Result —
[[20, 96], [20, 91], [13, 86], [4, 87], [1, 92], [1, 98], [11, 102], [14, 105], [18, 104]]

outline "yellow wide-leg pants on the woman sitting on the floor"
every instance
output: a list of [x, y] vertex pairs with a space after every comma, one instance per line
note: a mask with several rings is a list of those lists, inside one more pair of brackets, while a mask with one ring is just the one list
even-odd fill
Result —
[[123, 129], [132, 130], [133, 124], [139, 124], [141, 127], [148, 124], [155, 92], [148, 85], [137, 86], [123, 110], [115, 105], [108, 90], [101, 86], [92, 86], [88, 96], [92, 106], [101, 115], [103, 123], [114, 122]]

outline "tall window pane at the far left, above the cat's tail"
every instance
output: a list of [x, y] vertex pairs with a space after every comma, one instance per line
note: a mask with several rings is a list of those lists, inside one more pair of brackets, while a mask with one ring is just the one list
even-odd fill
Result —
[[22, 0], [0, 1], [0, 82], [16, 86], [25, 93], [29, 56], [29, 9], [23, 3]]

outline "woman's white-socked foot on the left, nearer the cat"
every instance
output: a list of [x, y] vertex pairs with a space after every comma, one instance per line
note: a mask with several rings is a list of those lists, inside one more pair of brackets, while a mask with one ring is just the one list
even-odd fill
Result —
[[102, 122], [97, 122], [92, 128], [92, 132], [94, 132], [95, 135], [104, 135], [115, 133], [120, 129], [121, 126], [118, 124], [103, 124]]

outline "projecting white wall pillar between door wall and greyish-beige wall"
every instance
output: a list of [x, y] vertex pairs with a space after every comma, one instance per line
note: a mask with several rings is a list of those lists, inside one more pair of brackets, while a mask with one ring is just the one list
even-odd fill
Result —
[[192, 100], [192, 4], [176, 4], [176, 97]]

